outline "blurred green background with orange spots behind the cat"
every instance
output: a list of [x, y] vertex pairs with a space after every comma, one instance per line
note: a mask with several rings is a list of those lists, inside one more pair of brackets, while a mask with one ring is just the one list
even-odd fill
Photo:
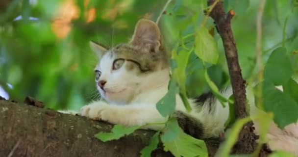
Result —
[[[78, 109], [98, 99], [89, 48], [94, 40], [107, 47], [127, 42], [141, 18], [156, 21], [167, 0], [0, 0], [0, 96], [23, 101], [31, 96], [53, 109]], [[259, 0], [224, 0], [236, 12], [232, 28], [243, 76], [254, 80], [256, 13]], [[282, 44], [283, 34], [298, 73], [298, 2], [267, 0], [263, 14], [263, 59]], [[296, 8], [295, 8], [296, 7]], [[206, 0], [172, 0], [159, 26], [169, 48], [194, 33], [204, 19]], [[296, 10], [295, 10], [296, 9]], [[287, 19], [287, 21], [286, 21]], [[285, 25], [286, 21], [286, 25]], [[219, 86], [228, 82], [221, 39], [210, 18], [219, 63], [208, 73]], [[283, 33], [284, 32], [284, 33]], [[187, 38], [186, 46], [194, 44]], [[193, 53], [186, 69], [190, 97], [208, 90], [201, 61]]]

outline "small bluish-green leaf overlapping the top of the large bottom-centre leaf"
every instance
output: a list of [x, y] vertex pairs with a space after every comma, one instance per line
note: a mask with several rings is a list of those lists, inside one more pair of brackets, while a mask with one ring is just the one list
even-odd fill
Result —
[[176, 118], [171, 117], [167, 122], [167, 126], [161, 136], [161, 140], [163, 142], [173, 141], [178, 136], [179, 132], [180, 132], [180, 127], [178, 125]]

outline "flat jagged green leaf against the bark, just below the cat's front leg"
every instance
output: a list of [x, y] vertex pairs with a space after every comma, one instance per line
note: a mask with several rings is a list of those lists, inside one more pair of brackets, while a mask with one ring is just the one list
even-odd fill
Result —
[[142, 126], [132, 126], [132, 127], [125, 127], [122, 125], [115, 125], [112, 132], [99, 132], [95, 135], [96, 138], [100, 139], [103, 142], [119, 139], [124, 135], [130, 134], [137, 129], [140, 129]]

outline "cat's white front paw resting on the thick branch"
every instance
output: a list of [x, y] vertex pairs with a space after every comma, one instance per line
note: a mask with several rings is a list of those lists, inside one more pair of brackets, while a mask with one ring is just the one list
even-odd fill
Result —
[[81, 108], [81, 116], [85, 116], [94, 120], [104, 120], [102, 115], [108, 110], [111, 110], [112, 106], [105, 102], [94, 102], [89, 105], [85, 105]]

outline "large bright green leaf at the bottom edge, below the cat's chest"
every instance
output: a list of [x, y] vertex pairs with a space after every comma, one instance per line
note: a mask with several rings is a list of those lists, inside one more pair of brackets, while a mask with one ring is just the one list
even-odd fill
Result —
[[175, 138], [168, 138], [171, 135], [165, 138], [164, 136], [169, 132], [164, 132], [161, 136], [165, 151], [170, 151], [175, 157], [208, 157], [207, 147], [203, 140], [184, 133], [178, 126], [175, 126], [174, 130], [178, 130], [175, 132], [177, 133]]

